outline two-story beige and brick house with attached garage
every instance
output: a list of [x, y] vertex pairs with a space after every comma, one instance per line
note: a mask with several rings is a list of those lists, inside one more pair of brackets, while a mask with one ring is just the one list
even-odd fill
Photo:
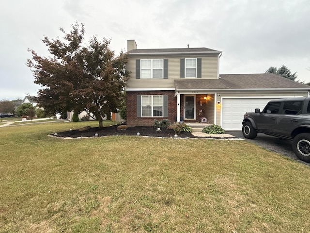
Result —
[[271, 73], [220, 75], [221, 54], [208, 48], [137, 49], [135, 40], [127, 40], [127, 125], [206, 119], [241, 130], [243, 115], [269, 100], [309, 95], [310, 86]]

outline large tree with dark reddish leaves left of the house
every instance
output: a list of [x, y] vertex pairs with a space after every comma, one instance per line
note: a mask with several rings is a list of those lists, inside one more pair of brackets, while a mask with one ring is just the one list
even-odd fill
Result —
[[114, 56], [110, 50], [110, 40], [102, 41], [93, 36], [88, 45], [84, 43], [84, 26], [76, 23], [70, 33], [59, 38], [45, 37], [50, 56], [39, 56], [29, 50], [32, 59], [27, 66], [34, 74], [34, 83], [42, 85], [39, 90], [40, 106], [51, 114], [66, 111], [86, 111], [99, 121], [103, 116], [118, 112], [122, 103], [122, 92], [128, 72], [127, 58], [123, 51]]

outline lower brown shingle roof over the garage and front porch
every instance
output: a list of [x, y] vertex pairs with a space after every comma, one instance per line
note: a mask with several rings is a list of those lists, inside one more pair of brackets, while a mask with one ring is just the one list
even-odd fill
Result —
[[219, 79], [175, 80], [176, 90], [303, 89], [310, 86], [271, 73], [221, 74]]

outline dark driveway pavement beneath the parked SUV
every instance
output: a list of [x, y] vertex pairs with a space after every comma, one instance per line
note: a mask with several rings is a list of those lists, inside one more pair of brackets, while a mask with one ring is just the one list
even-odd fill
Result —
[[243, 136], [241, 131], [225, 131], [237, 138], [243, 138], [248, 142], [254, 143], [258, 146], [261, 146], [265, 149], [277, 152], [284, 156], [290, 157], [300, 163], [310, 166], [309, 163], [301, 161], [296, 157], [292, 148], [292, 141], [288, 139], [282, 139], [274, 136], [265, 135], [263, 133], [257, 133], [257, 137], [254, 139], [247, 139]]

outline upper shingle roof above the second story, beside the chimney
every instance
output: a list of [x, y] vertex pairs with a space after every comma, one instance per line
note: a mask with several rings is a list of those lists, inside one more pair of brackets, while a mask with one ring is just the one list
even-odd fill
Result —
[[136, 49], [130, 50], [129, 55], [143, 55], [143, 54], [181, 54], [181, 53], [221, 53], [222, 51], [212, 50], [208, 48], [179, 48], [179, 49]]

